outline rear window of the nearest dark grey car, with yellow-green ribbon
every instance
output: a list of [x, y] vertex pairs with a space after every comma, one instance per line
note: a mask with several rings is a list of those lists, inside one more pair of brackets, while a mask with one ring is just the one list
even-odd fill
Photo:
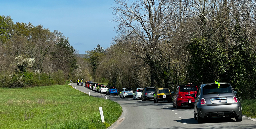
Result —
[[219, 93], [232, 93], [231, 87], [229, 84], [212, 84], [204, 86], [204, 95], [208, 94], [219, 94]]

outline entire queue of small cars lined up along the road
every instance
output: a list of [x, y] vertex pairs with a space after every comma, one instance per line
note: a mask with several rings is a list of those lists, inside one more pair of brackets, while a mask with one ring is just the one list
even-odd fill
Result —
[[133, 100], [141, 99], [141, 101], [153, 99], [154, 103], [173, 101], [173, 107], [176, 109], [193, 106], [194, 119], [198, 123], [203, 123], [207, 118], [223, 116], [242, 121], [242, 108], [236, 96], [237, 91], [234, 91], [229, 83], [207, 83], [199, 87], [190, 83], [179, 85], [172, 92], [169, 88], [146, 87], [134, 91], [132, 88], [122, 88], [119, 93], [116, 87], [108, 87], [92, 81], [86, 81], [84, 87], [106, 95], [119, 95], [120, 98], [133, 97]]

